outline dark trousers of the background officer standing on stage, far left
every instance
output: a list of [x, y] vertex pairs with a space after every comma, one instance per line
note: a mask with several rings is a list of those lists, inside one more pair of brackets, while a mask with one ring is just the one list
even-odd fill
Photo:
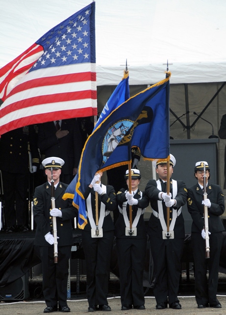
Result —
[[[28, 213], [28, 172], [10, 173], [1, 171], [5, 202], [6, 226], [26, 224]], [[15, 208], [16, 207], [16, 208]]]

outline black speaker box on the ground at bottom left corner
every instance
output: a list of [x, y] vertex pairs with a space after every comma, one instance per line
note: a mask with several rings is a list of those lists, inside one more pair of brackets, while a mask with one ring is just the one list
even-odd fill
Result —
[[23, 301], [29, 297], [28, 273], [12, 282], [0, 287], [0, 301]]

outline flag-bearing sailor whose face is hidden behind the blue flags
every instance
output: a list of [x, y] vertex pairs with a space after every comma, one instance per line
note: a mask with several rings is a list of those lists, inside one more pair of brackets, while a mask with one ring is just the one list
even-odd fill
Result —
[[[81, 231], [86, 262], [88, 312], [95, 312], [97, 306], [100, 311], [111, 311], [107, 300], [114, 237], [110, 211], [115, 210], [117, 201], [113, 186], [101, 184], [101, 176], [101, 172], [96, 173], [84, 194], [87, 224]], [[98, 232], [96, 232], [95, 192], [98, 192]]]

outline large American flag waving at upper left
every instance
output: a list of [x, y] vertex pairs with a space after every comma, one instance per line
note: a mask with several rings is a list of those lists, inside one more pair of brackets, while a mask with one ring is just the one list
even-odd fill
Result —
[[95, 2], [0, 69], [0, 134], [97, 115]]

